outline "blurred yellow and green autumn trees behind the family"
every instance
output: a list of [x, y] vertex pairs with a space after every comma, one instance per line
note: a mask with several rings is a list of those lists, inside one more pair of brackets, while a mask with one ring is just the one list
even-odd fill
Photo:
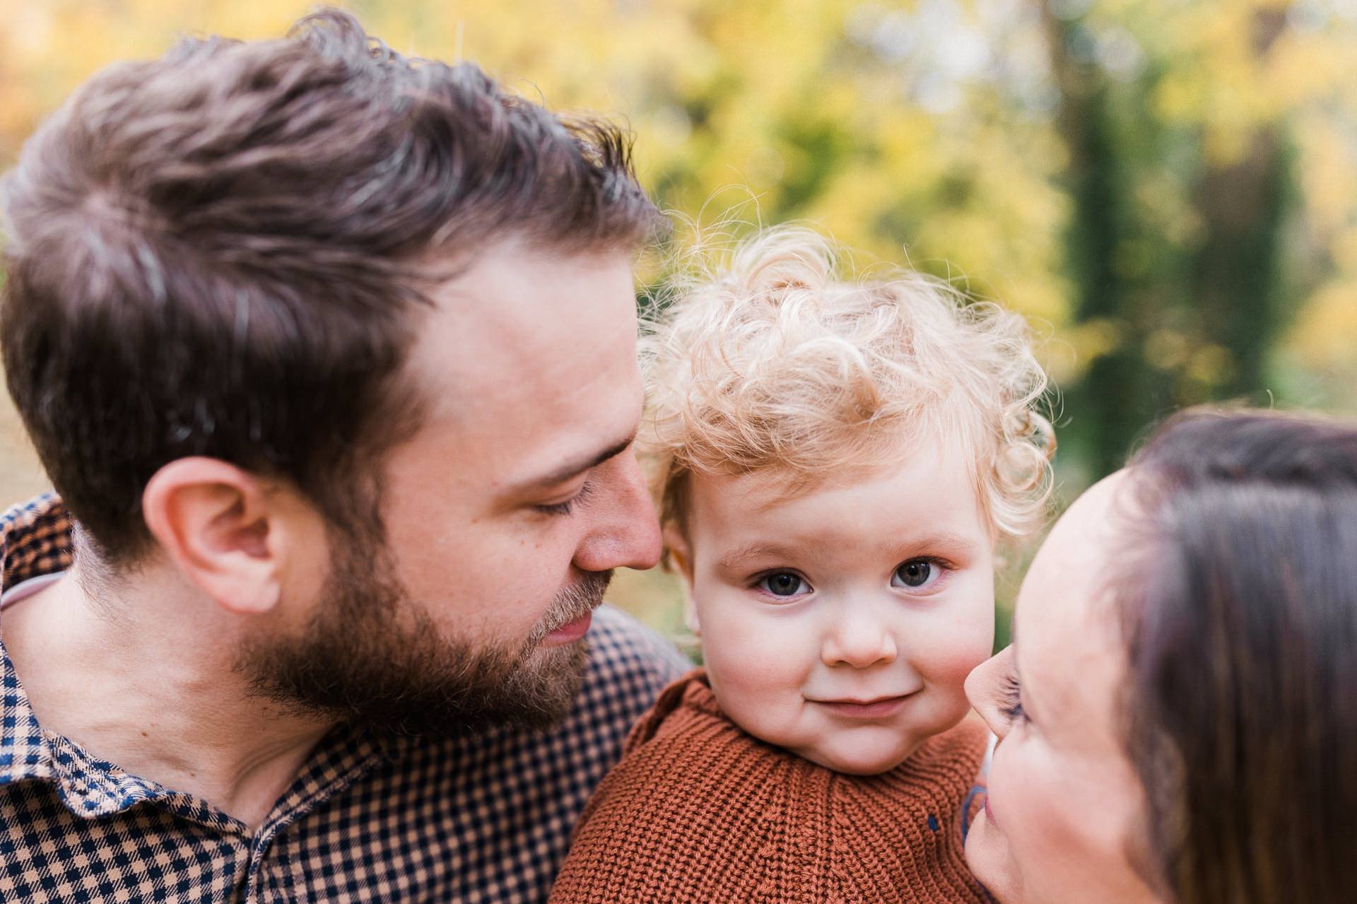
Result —
[[[309, 5], [0, 0], [0, 164], [102, 65]], [[345, 5], [396, 50], [628, 121], [691, 221], [809, 221], [859, 267], [1026, 314], [1065, 498], [1185, 404], [1357, 413], [1357, 0]], [[4, 409], [0, 490], [41, 486]], [[677, 626], [662, 578], [616, 595]]]

